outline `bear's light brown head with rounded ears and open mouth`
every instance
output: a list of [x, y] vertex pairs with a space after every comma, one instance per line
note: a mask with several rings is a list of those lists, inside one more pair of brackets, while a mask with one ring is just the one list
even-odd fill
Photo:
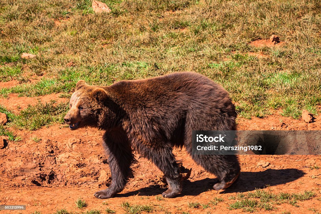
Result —
[[71, 130], [82, 127], [98, 127], [100, 114], [104, 108], [107, 92], [98, 87], [90, 86], [80, 80], [70, 98], [69, 111], [65, 116], [65, 123]]

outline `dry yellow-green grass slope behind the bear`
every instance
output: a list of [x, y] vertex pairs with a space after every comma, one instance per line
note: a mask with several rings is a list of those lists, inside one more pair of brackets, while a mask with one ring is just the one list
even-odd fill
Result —
[[[227, 89], [240, 104], [241, 117], [264, 117], [273, 109], [293, 118], [302, 109], [318, 113], [318, 0], [103, 2], [111, 13], [93, 13], [90, 0], [1, 1], [0, 81], [21, 77], [25, 66], [28, 75], [45, 76], [3, 88], [0, 95], [70, 94], [79, 79], [110, 85], [195, 71]], [[272, 33], [286, 43], [274, 48], [249, 45]], [[24, 60], [23, 52], [37, 57]], [[71, 61], [74, 66], [68, 68]]]

